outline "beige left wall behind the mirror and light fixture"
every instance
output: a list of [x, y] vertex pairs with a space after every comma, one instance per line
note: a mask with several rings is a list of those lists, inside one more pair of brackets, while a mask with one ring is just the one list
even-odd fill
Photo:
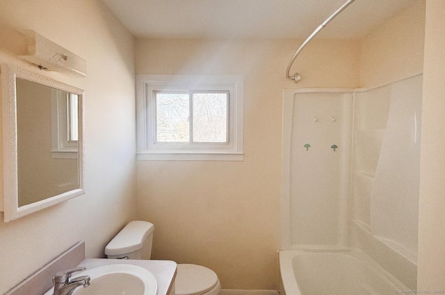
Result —
[[[87, 62], [86, 78], [38, 71], [12, 53], [0, 62], [86, 90], [86, 194], [15, 221], [0, 214], [0, 294], [76, 242], [100, 257], [136, 213], [134, 38], [102, 1], [3, 0], [0, 47], [22, 50], [3, 25], [31, 28]], [[13, 45], [17, 41], [17, 45]], [[4, 42], [7, 42], [5, 44]]]

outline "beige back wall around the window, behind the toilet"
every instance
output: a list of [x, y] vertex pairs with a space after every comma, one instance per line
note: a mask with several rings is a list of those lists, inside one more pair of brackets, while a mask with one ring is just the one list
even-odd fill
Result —
[[[223, 289], [277, 289], [282, 90], [301, 40], [138, 40], [138, 74], [245, 79], [243, 162], [138, 167], [138, 216], [154, 223], [153, 258], [210, 267]], [[316, 40], [297, 60], [298, 87], [357, 87], [359, 42]]]

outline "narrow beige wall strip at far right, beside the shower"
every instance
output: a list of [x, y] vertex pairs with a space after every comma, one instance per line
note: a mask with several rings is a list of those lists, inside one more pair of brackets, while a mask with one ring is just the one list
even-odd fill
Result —
[[[418, 289], [445, 289], [445, 2], [426, 1]], [[442, 291], [443, 292], [443, 291]]]

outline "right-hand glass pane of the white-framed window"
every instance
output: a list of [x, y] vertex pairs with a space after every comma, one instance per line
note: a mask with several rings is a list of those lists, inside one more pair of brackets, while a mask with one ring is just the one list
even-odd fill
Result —
[[227, 96], [193, 94], [193, 142], [227, 142]]

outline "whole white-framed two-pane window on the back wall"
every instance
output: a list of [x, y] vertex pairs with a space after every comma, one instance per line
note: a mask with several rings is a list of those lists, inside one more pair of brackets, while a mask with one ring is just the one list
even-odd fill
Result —
[[136, 75], [138, 160], [243, 160], [243, 77]]

